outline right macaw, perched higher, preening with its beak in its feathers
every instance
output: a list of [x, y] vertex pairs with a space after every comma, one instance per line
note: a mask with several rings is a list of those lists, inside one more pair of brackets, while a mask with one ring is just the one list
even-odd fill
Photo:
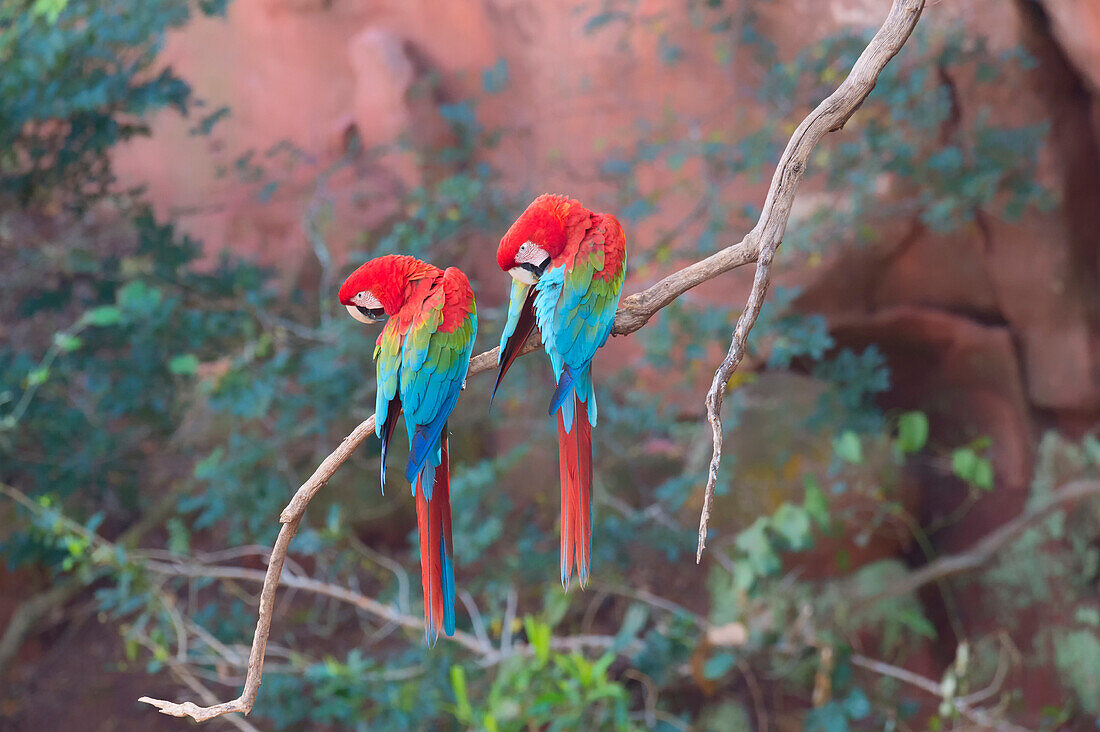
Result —
[[547, 194], [504, 234], [496, 261], [512, 275], [512, 295], [493, 395], [538, 325], [558, 382], [550, 415], [558, 413], [561, 583], [569, 588], [575, 564], [583, 589], [592, 554], [592, 357], [615, 323], [626, 275], [626, 238], [614, 216]]

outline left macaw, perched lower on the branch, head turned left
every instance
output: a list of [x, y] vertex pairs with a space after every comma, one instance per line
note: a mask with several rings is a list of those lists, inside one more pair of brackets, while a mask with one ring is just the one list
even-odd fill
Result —
[[361, 323], [388, 317], [374, 349], [375, 431], [382, 438], [382, 490], [397, 416], [405, 411], [420, 537], [420, 583], [428, 643], [454, 634], [454, 549], [451, 543], [447, 419], [459, 400], [477, 332], [477, 308], [461, 270], [388, 254], [351, 273], [340, 303]]

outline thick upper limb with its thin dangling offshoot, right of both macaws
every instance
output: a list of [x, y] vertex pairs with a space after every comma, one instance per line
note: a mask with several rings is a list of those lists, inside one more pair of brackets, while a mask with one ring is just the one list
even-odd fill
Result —
[[714, 381], [711, 382], [711, 390], [706, 394], [706, 418], [711, 423], [713, 451], [706, 478], [706, 491], [703, 495], [703, 511], [698, 521], [696, 562], [703, 559], [706, 529], [711, 521], [711, 504], [714, 502], [714, 487], [718, 481], [718, 465], [722, 461], [722, 401], [726, 395], [729, 378], [745, 357], [745, 343], [749, 331], [756, 325], [763, 298], [768, 294], [771, 260], [783, 240], [787, 221], [791, 217], [791, 206], [794, 204], [794, 194], [806, 172], [810, 154], [825, 134], [843, 128], [848, 118], [864, 103], [887, 63], [905, 45], [905, 41], [916, 28], [916, 21], [921, 18], [923, 9], [924, 0], [894, 0], [882, 28], [864, 48], [848, 77], [836, 91], [802, 120], [802, 124], [791, 135], [787, 150], [779, 159], [776, 174], [771, 178], [771, 187], [768, 188], [760, 219], [741, 241], [741, 244], [758, 253], [757, 271], [748, 302], [737, 318], [729, 350], [718, 370], [714, 372]]

